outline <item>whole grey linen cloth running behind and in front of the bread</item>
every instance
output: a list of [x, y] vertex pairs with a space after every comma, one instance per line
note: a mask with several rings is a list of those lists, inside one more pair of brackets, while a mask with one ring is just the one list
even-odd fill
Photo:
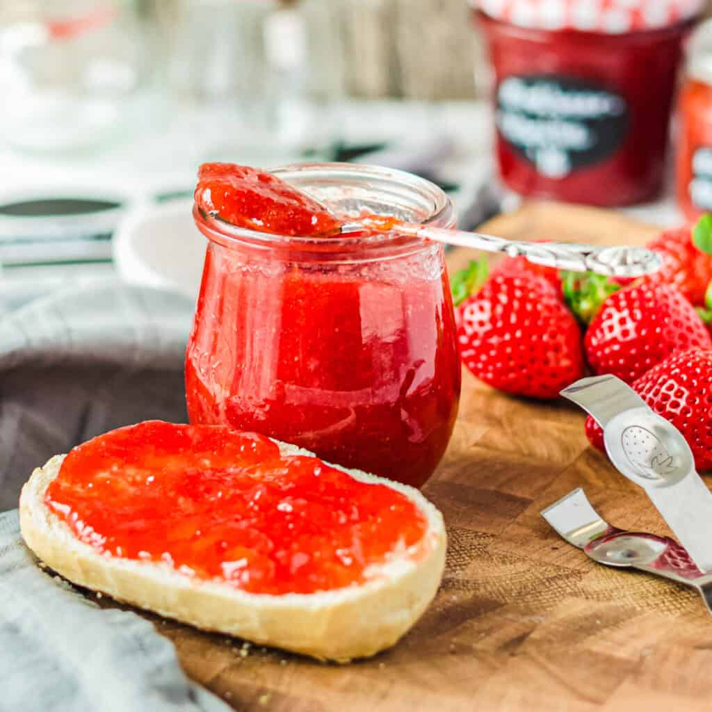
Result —
[[[119, 283], [51, 295], [0, 321], [0, 511], [50, 456], [148, 418], [185, 420], [193, 305]], [[1, 712], [224, 712], [172, 644], [36, 565], [0, 514]]]

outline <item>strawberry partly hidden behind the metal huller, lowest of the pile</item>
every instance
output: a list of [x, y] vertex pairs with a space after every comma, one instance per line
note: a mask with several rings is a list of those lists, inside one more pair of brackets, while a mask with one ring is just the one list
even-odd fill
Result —
[[[691, 349], [666, 358], [633, 384], [659, 415], [685, 436], [698, 470], [712, 469], [712, 350]], [[603, 450], [603, 432], [586, 420], [591, 444]]]

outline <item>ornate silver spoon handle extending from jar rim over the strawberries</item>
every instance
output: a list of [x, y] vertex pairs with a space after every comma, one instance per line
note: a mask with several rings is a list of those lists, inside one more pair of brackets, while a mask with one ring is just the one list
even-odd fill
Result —
[[[362, 229], [359, 223], [344, 226], [349, 232]], [[449, 245], [486, 252], [501, 252], [511, 257], [523, 256], [530, 262], [575, 272], [595, 272], [614, 277], [640, 277], [659, 270], [656, 253], [642, 247], [595, 247], [561, 242], [533, 243], [506, 240], [479, 232], [449, 230], [417, 224], [398, 224], [398, 232]]]

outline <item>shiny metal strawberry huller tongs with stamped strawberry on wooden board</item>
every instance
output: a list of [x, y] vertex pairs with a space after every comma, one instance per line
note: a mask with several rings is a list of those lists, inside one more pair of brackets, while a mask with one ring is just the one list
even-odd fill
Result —
[[568, 543], [593, 560], [631, 567], [696, 588], [712, 613], [712, 493], [676, 427], [614, 376], [584, 378], [562, 391], [602, 426], [612, 464], [642, 486], [679, 543], [607, 523], [582, 489], [542, 511]]

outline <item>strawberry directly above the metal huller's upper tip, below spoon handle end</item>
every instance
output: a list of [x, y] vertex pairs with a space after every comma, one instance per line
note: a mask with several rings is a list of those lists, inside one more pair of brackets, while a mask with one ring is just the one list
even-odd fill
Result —
[[604, 301], [584, 344], [595, 373], [612, 373], [632, 383], [672, 354], [712, 348], [712, 338], [679, 290], [644, 281]]

